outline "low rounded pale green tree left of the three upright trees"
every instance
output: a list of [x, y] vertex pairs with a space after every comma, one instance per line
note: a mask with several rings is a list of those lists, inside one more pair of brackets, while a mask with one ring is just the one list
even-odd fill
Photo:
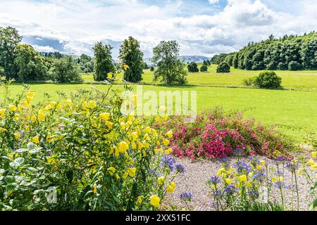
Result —
[[70, 57], [54, 60], [49, 72], [51, 79], [57, 82], [82, 82], [80, 68]]

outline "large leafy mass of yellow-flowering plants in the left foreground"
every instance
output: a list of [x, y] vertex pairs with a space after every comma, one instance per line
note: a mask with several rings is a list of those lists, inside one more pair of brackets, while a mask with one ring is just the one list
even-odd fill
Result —
[[154, 210], [174, 191], [173, 134], [122, 115], [118, 91], [34, 95], [0, 103], [0, 210]]

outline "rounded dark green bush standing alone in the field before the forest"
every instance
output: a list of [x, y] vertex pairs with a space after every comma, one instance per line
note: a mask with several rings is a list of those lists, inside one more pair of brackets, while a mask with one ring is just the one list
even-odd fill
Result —
[[258, 77], [254, 79], [254, 85], [264, 89], [276, 89], [280, 87], [282, 78], [278, 77], [273, 71], [261, 72]]

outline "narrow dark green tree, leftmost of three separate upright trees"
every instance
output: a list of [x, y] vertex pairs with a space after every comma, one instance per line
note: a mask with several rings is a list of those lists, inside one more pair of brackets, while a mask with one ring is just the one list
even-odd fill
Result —
[[115, 72], [111, 56], [111, 47], [109, 44], [102, 44], [101, 41], [92, 48], [94, 51], [94, 80], [105, 80], [109, 72]]

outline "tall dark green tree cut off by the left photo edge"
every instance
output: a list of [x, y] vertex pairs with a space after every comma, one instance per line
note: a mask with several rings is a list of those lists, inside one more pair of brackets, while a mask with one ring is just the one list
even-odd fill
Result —
[[4, 68], [6, 79], [17, 79], [17, 67], [14, 63], [16, 57], [15, 47], [22, 37], [13, 27], [0, 27], [0, 67]]

